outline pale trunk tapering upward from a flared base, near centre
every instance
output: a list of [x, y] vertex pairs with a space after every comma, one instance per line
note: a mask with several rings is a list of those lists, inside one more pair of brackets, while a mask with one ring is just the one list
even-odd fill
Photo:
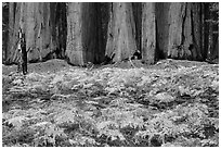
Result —
[[119, 62], [129, 59], [136, 51], [132, 4], [117, 2], [112, 3], [109, 9], [106, 55], [113, 62]]

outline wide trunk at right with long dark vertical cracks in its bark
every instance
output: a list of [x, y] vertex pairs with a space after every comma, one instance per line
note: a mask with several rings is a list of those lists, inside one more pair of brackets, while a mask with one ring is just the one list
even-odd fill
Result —
[[200, 3], [171, 3], [168, 57], [202, 60]]

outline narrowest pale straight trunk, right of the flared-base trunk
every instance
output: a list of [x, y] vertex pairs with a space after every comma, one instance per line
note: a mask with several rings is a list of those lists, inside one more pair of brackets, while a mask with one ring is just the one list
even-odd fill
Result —
[[142, 10], [142, 60], [146, 64], [154, 64], [156, 52], [155, 3], [143, 3]]

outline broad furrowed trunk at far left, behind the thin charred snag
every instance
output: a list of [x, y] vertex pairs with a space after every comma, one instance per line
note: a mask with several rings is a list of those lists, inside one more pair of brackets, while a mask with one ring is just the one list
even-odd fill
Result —
[[[56, 16], [55, 7], [54, 3], [40, 2], [10, 3], [8, 62], [17, 62], [18, 60], [17, 33], [20, 27], [25, 33], [28, 61], [56, 58], [56, 50], [58, 48], [61, 51], [64, 50], [64, 45], [58, 46], [58, 39], [56, 39], [60, 36], [56, 29], [63, 28], [60, 24], [64, 20], [55, 23], [55, 17], [56, 20], [64, 17], [64, 14], [63, 16]], [[65, 11], [65, 7], [63, 7], [63, 11]], [[60, 12], [58, 15], [62, 15], [62, 13]], [[62, 30], [62, 37], [65, 37], [65, 28]]]

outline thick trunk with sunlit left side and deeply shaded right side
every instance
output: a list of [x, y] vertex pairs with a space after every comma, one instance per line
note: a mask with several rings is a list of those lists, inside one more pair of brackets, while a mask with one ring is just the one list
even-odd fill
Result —
[[66, 55], [69, 63], [84, 65], [103, 60], [99, 16], [95, 3], [68, 3]]

